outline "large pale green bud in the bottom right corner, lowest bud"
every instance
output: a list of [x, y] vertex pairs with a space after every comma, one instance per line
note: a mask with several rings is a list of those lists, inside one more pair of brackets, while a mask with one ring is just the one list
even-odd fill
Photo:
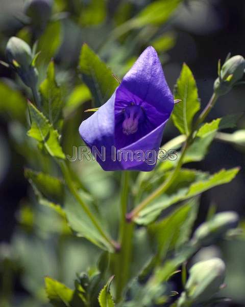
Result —
[[189, 278], [178, 307], [208, 301], [225, 280], [226, 265], [220, 258], [212, 258], [194, 264], [189, 270]]

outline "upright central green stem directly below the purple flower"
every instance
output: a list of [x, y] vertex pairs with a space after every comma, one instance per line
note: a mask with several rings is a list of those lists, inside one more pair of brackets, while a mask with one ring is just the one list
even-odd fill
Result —
[[127, 223], [126, 214], [129, 197], [129, 172], [122, 172], [121, 182], [121, 201], [120, 201], [120, 228], [119, 228], [119, 242], [120, 251], [116, 255], [116, 301], [121, 300], [122, 292], [127, 284], [130, 273], [130, 264], [132, 257], [132, 238], [134, 231], [134, 224]]

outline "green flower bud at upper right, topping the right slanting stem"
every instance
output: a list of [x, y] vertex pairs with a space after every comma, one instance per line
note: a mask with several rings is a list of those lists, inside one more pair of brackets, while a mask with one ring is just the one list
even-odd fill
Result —
[[219, 72], [219, 77], [214, 82], [214, 92], [225, 95], [239, 81], [245, 69], [245, 59], [241, 55], [235, 55], [225, 62]]

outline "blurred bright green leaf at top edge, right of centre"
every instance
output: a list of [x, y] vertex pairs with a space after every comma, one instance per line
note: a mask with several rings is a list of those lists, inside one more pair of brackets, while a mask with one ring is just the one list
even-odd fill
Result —
[[136, 17], [132, 19], [134, 27], [145, 25], [161, 25], [165, 23], [181, 0], [158, 0], [146, 6]]

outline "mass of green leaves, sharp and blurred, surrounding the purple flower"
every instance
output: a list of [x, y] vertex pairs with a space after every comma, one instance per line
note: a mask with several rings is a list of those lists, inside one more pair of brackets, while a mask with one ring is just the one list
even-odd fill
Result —
[[[6, 177], [6, 168], [15, 163], [21, 171], [24, 168], [24, 176], [31, 185], [20, 201], [10, 242], [0, 245], [0, 305], [44, 307], [50, 305], [48, 300], [59, 307], [104, 307], [114, 306], [114, 302], [120, 307], [170, 305], [178, 299], [175, 295], [179, 291], [176, 286], [179, 275], [183, 281], [181, 291], [185, 289], [186, 261], [191, 261], [197, 252], [200, 257], [205, 256], [203, 243], [197, 240], [196, 233], [192, 234], [197, 226], [194, 223], [198, 218], [199, 195], [229, 183], [239, 168], [225, 170], [221, 162], [219, 171], [183, 167], [174, 184], [140, 212], [135, 219], [138, 226], [132, 238], [129, 280], [122, 292], [124, 299], [118, 302], [115, 297], [118, 281], [112, 278], [117, 272], [117, 254], [99, 229], [105, 230], [112, 242], [116, 240], [120, 174], [104, 172], [94, 161], [63, 160], [71, 154], [72, 146], [81, 145], [78, 127], [81, 120], [90, 116], [84, 111], [108, 100], [119, 78], [146, 46], [157, 50], [163, 64], [171, 63], [169, 51], [183, 34], [177, 31], [178, 27], [182, 25], [182, 29], [194, 33], [218, 28], [215, 10], [211, 2], [195, 0], [47, 2], [50, 10], [44, 19], [38, 18], [40, 12], [33, 14], [28, 10], [26, 1], [1, 3], [1, 60], [7, 61], [5, 47], [12, 35], [26, 41], [33, 54], [40, 53], [35, 62], [39, 73], [36, 97], [6, 67], [1, 74], [0, 115], [7, 128], [5, 135], [0, 135], [0, 180]], [[178, 74], [180, 70], [178, 65]], [[201, 91], [198, 95], [197, 88], [200, 80], [197, 81], [184, 64], [175, 87], [175, 98], [181, 102], [172, 116], [183, 135], [169, 141], [176, 149], [189, 136], [200, 109]], [[38, 101], [41, 108], [37, 107]], [[225, 114], [225, 111], [218, 114], [218, 118], [197, 129], [184, 164], [204, 160], [216, 140], [244, 152], [244, 126], [231, 130], [239, 115]], [[223, 129], [229, 130], [220, 132]], [[8, 147], [17, 157], [15, 160], [9, 158]], [[160, 186], [176, 163], [166, 160], [158, 163], [154, 172], [133, 172], [128, 209]], [[72, 175], [69, 184], [66, 172]], [[14, 173], [11, 175], [15, 177]], [[77, 191], [77, 197], [72, 191]], [[14, 189], [11, 193], [14, 194]], [[87, 208], [99, 228], [87, 215]], [[218, 235], [212, 236], [210, 244], [216, 244], [218, 256], [227, 265], [227, 287], [219, 294], [243, 303], [244, 222], [235, 229], [231, 229], [235, 225], [226, 224], [220, 231], [213, 214], [212, 229]]]

